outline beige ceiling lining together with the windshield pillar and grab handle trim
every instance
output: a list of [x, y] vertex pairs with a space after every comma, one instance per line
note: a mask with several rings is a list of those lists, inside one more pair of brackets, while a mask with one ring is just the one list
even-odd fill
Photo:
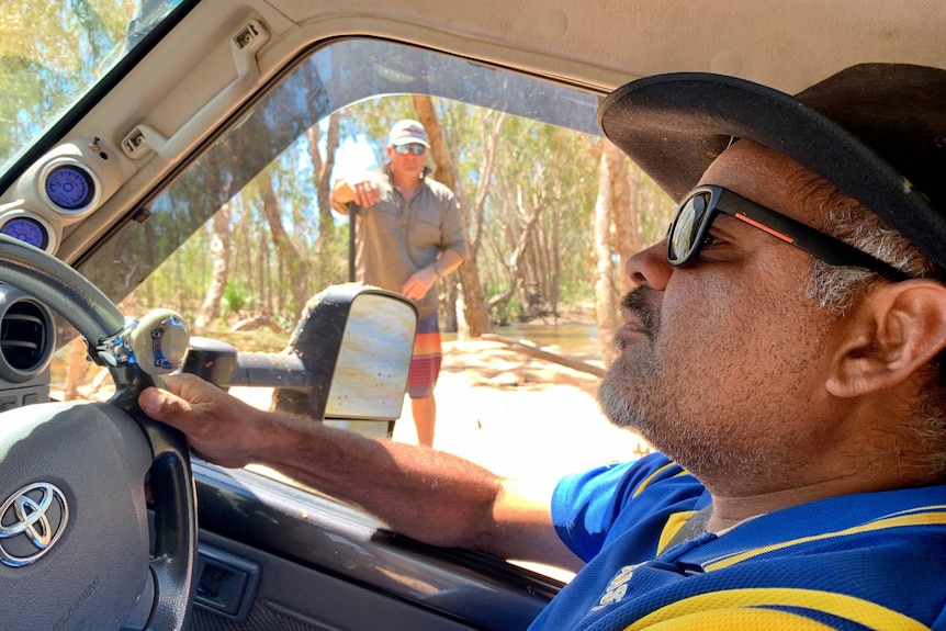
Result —
[[[239, 79], [232, 38], [252, 20], [268, 37]], [[101, 138], [119, 158], [100, 173], [108, 198], [63, 227], [57, 256], [77, 260], [288, 64], [334, 38], [416, 43], [601, 94], [668, 71], [723, 72], [796, 92], [858, 61], [946, 68], [944, 25], [942, 0], [203, 0], [57, 139]], [[172, 142], [123, 154], [123, 140], [142, 126]], [[0, 204], [29, 196], [21, 192], [33, 190], [30, 177], [0, 194]]]

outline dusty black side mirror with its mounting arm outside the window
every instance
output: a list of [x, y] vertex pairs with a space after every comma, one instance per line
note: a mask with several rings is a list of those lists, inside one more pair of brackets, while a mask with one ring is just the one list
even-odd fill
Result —
[[306, 304], [281, 353], [237, 352], [191, 338], [183, 371], [223, 387], [272, 387], [273, 407], [315, 420], [401, 416], [417, 335], [417, 309], [370, 285], [333, 285]]

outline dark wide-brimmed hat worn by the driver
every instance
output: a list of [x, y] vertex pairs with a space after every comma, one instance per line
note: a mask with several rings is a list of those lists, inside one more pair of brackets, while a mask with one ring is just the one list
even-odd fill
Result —
[[861, 64], [795, 97], [724, 75], [632, 81], [598, 126], [675, 200], [733, 138], [799, 162], [877, 213], [946, 269], [946, 71]]

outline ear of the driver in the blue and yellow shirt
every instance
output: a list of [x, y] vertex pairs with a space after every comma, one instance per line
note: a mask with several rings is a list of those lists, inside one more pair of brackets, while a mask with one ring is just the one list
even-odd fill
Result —
[[946, 348], [946, 285], [919, 279], [876, 286], [838, 326], [827, 391], [852, 397], [893, 387]]

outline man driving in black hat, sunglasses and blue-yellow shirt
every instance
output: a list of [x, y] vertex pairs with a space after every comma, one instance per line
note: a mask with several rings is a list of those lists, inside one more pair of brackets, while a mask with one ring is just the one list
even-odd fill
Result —
[[679, 201], [626, 261], [600, 390], [658, 453], [509, 480], [190, 375], [142, 408], [421, 541], [581, 567], [536, 630], [946, 628], [946, 71], [860, 65], [796, 97], [656, 76], [598, 124]]

